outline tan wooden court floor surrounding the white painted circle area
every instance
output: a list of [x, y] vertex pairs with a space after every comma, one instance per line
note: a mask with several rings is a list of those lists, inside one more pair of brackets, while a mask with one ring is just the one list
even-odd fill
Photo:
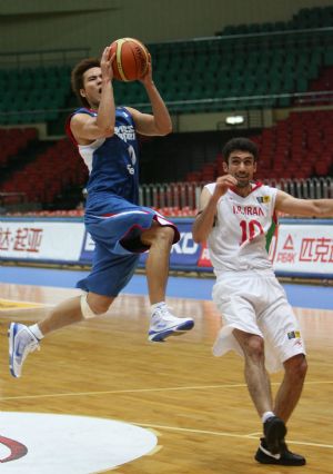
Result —
[[[295, 309], [310, 368], [287, 441], [306, 456], [307, 465], [290, 468], [253, 461], [261, 423], [241, 358], [211, 354], [220, 318], [210, 302], [170, 298], [175, 314], [195, 318], [195, 328], [151, 344], [147, 298], [121, 296], [107, 316], [49, 336], [41, 352], [29, 356], [22, 378], [13, 379], [7, 364], [8, 323], [39, 320], [46, 305], [74, 294], [0, 285], [2, 411], [90, 415], [153, 428], [160, 450], [112, 471], [118, 474], [333, 472], [333, 312]], [[18, 308], [10, 300], [41, 305]], [[281, 376], [272, 377], [273, 391]]]

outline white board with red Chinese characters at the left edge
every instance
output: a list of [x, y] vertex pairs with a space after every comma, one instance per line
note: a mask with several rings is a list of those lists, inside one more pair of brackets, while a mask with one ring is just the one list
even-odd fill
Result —
[[0, 220], [0, 258], [78, 261], [83, 236], [80, 221]]

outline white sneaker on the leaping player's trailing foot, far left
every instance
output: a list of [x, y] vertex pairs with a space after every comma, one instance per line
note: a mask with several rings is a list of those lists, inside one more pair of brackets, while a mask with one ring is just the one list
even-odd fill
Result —
[[20, 377], [22, 365], [29, 353], [39, 350], [39, 340], [29, 327], [20, 323], [11, 323], [8, 329], [9, 368], [13, 377]]

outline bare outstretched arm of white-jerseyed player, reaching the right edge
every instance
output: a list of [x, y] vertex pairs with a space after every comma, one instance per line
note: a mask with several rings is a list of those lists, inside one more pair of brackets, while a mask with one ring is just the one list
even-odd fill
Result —
[[279, 190], [275, 209], [292, 216], [333, 217], [333, 199], [297, 199]]

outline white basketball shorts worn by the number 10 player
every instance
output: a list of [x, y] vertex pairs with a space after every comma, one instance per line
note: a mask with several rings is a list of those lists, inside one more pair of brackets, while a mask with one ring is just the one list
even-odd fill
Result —
[[269, 372], [278, 372], [289, 358], [305, 354], [299, 322], [272, 270], [224, 273], [213, 287], [213, 302], [223, 320], [213, 346], [215, 356], [229, 350], [243, 355], [233, 336], [235, 328], [264, 339]]

